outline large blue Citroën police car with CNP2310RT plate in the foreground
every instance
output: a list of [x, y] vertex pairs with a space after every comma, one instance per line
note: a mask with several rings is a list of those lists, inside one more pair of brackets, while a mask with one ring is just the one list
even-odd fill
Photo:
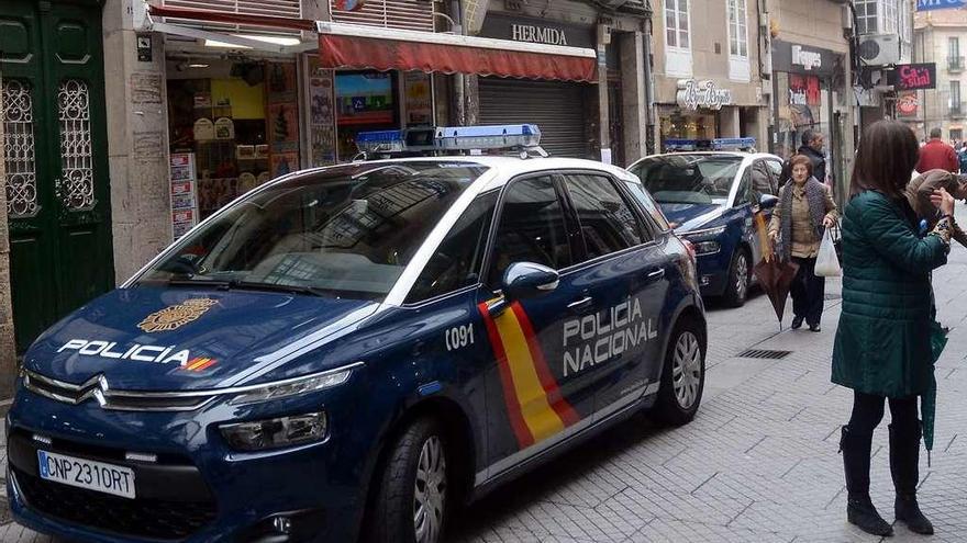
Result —
[[635, 411], [691, 420], [704, 355], [689, 244], [625, 170], [301, 171], [37, 339], [8, 496], [69, 541], [434, 543], [454, 507]]

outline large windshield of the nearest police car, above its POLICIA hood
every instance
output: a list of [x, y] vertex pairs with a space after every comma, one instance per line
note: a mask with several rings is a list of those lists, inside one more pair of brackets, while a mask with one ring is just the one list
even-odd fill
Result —
[[299, 176], [233, 204], [138, 283], [380, 301], [486, 170], [455, 161], [370, 162]]

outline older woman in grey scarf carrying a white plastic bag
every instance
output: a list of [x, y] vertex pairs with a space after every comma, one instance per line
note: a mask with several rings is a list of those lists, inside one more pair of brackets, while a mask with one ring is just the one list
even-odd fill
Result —
[[773, 210], [769, 237], [777, 244], [780, 259], [799, 264], [792, 281], [792, 328], [802, 321], [809, 329], [821, 331], [826, 278], [815, 274], [816, 254], [823, 233], [836, 224], [838, 214], [830, 188], [813, 176], [813, 162], [804, 155], [789, 159], [792, 179], [779, 191], [779, 203]]

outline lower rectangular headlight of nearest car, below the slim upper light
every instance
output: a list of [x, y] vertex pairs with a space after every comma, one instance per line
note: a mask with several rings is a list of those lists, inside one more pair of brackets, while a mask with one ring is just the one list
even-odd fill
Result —
[[225, 425], [220, 430], [232, 449], [252, 452], [322, 441], [327, 426], [325, 412], [320, 411]]

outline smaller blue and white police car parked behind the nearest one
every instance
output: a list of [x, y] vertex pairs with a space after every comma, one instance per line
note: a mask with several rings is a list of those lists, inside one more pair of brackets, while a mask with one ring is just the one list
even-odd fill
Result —
[[694, 245], [702, 294], [733, 307], [745, 303], [762, 260], [765, 228], [777, 202], [782, 159], [724, 150], [754, 138], [666, 142], [709, 150], [645, 157], [629, 167], [658, 202], [675, 231]]

